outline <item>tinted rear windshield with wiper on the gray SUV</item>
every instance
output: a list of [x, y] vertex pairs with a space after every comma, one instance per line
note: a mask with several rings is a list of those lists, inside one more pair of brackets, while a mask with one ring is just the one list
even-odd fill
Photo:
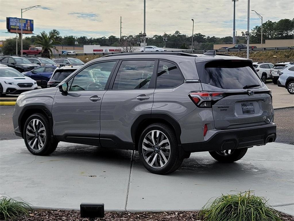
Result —
[[201, 83], [223, 89], [243, 89], [246, 85], [260, 85], [260, 79], [250, 67], [251, 62], [213, 61], [206, 63]]

